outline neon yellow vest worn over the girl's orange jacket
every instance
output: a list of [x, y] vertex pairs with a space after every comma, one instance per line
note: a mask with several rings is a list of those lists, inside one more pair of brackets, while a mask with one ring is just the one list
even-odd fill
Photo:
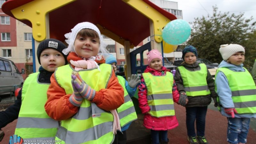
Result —
[[[67, 94], [73, 93], [71, 85], [71, 72], [75, 71], [70, 65], [56, 69], [55, 78], [58, 84]], [[95, 91], [105, 89], [112, 75], [112, 66], [101, 64], [100, 71], [97, 68], [83, 69], [79, 75]], [[61, 143], [93, 143], [109, 144], [113, 141], [113, 115], [97, 107], [95, 103], [83, 100], [78, 112], [67, 120], [61, 121], [56, 140]]]

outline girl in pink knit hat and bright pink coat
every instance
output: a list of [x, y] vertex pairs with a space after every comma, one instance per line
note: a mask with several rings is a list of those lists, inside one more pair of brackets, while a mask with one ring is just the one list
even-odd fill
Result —
[[[179, 100], [179, 92], [171, 72], [163, 67], [163, 58], [159, 51], [147, 53], [148, 67], [141, 75], [139, 85], [139, 107], [144, 116], [144, 126], [151, 129], [153, 144], [168, 143], [167, 130], [177, 127], [178, 120], [174, 112], [174, 102], [186, 103]], [[159, 136], [160, 134], [160, 136]]]

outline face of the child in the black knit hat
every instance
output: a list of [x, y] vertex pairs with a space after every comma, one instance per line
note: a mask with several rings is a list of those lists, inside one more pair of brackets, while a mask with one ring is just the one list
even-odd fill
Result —
[[45, 49], [40, 55], [40, 62], [45, 70], [54, 72], [56, 68], [65, 65], [65, 58], [54, 49]]

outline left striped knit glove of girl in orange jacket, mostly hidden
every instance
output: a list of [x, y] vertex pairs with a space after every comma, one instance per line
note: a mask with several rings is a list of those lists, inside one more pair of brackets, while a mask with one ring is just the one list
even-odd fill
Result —
[[71, 96], [69, 97], [69, 101], [70, 103], [72, 103], [74, 106], [76, 107], [80, 107], [80, 105], [82, 104], [84, 98], [81, 96], [81, 94], [78, 92], [75, 84], [74, 84], [74, 80], [73, 80], [73, 74], [71, 75], [71, 84], [73, 87], [73, 94], [71, 94]]

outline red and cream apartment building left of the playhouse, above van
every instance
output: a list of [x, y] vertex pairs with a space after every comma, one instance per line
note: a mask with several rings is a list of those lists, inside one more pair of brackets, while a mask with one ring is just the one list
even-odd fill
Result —
[[[5, 0], [0, 0], [0, 56], [12, 60], [19, 71], [33, 72], [32, 28], [2, 11]], [[22, 74], [26, 78], [26, 74]]]

